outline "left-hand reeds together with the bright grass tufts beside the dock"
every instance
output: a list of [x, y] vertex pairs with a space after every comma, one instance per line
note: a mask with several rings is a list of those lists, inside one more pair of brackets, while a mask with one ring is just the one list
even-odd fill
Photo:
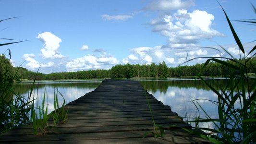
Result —
[[[12, 18], [4, 20], [9, 19]], [[0, 20], [0, 22], [4, 20]], [[12, 40], [7, 38], [1, 39]], [[3, 43], [0, 44], [0, 46], [19, 42], [22, 41]], [[63, 108], [65, 99], [58, 90], [57, 94], [59, 93], [63, 97], [64, 103], [60, 107], [58, 103], [58, 95], [54, 94], [54, 108], [56, 109], [54, 113], [51, 112], [48, 114], [48, 106], [45, 104], [46, 91], [42, 103], [38, 102], [38, 95], [35, 95], [35, 93], [32, 97], [37, 75], [35, 76], [28, 96], [15, 92], [15, 85], [13, 82], [18, 78], [17, 73], [20, 67], [17, 69], [12, 67], [10, 62], [11, 50], [7, 49], [6, 51], [9, 51], [9, 59], [6, 58], [5, 54], [0, 54], [0, 133], [7, 132], [17, 126], [29, 125], [29, 123], [32, 123], [34, 134], [46, 134], [52, 127], [55, 127], [54, 125], [58, 122], [64, 123], [67, 117], [67, 112], [65, 112]], [[53, 117], [54, 123], [49, 126], [48, 121], [50, 117]]]

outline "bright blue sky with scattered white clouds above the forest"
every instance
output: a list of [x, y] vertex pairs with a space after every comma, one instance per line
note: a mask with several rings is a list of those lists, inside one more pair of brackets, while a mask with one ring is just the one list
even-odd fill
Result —
[[[256, 27], [256, 0], [219, 0], [247, 52]], [[165, 61], [176, 67], [196, 57], [226, 56], [203, 48], [226, 48], [239, 58], [217, 0], [0, 0], [0, 38], [22, 43], [10, 48], [13, 66], [37, 72], [110, 69], [116, 64]], [[12, 42], [1, 40], [0, 43]], [[8, 54], [8, 53], [6, 53]], [[186, 63], [205, 62], [196, 59]]]

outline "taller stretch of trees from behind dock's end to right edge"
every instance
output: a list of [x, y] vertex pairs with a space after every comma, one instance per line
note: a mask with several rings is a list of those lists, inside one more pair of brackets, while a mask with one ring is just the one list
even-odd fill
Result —
[[[226, 62], [232, 63], [227, 60]], [[244, 60], [241, 60], [243, 63]], [[189, 77], [195, 76], [195, 73], [199, 73], [205, 63], [195, 64], [193, 66], [178, 66], [175, 68], [168, 68], [165, 62], [143, 64], [143, 65], [115, 65], [111, 68], [111, 78], [133, 78], [133, 77], [153, 77], [153, 78], [171, 78], [171, 77]], [[250, 60], [248, 73], [253, 73], [253, 67], [256, 68], [256, 57]], [[219, 64], [218, 62], [209, 62], [205, 69], [201, 72], [201, 76], [227, 76], [230, 75], [230, 67]], [[237, 73], [239, 74], [239, 73]]]

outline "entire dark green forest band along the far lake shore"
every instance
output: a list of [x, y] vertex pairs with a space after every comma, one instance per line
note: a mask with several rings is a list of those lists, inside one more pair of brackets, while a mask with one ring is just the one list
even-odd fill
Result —
[[[205, 63], [195, 64], [192, 66], [184, 65], [178, 67], [168, 67], [166, 63], [159, 62], [151, 64], [118, 64], [113, 66], [110, 70], [88, 70], [78, 72], [52, 72], [41, 73], [28, 71], [23, 67], [12, 67], [11, 62], [5, 58], [5, 55], [0, 55], [0, 59], [4, 60], [1, 67], [7, 70], [5, 76], [13, 76], [16, 81], [23, 80], [71, 80], [71, 79], [131, 79], [131, 78], [172, 78], [172, 77], [191, 77], [195, 73], [199, 73]], [[240, 60], [243, 63], [243, 59]], [[228, 63], [232, 61], [227, 60]], [[250, 60], [250, 66], [247, 67], [248, 73], [253, 73], [253, 66], [256, 67], [256, 57]], [[6, 69], [7, 68], [7, 69]], [[2, 72], [3, 74], [5, 72]], [[16, 73], [16, 74], [15, 74]], [[217, 62], [209, 62], [201, 72], [201, 76], [228, 76], [230, 68], [228, 66], [219, 64]], [[239, 74], [239, 73], [237, 73]]]

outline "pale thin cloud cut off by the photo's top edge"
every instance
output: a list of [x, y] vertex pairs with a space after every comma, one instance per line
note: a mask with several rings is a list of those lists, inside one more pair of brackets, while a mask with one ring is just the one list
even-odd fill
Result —
[[147, 4], [142, 10], [144, 11], [171, 11], [177, 9], [187, 9], [195, 5], [192, 0], [153, 0]]

